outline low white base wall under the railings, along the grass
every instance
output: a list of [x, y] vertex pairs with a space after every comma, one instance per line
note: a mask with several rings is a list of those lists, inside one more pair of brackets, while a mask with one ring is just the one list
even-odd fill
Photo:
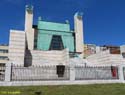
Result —
[[110, 84], [125, 83], [120, 80], [81, 80], [81, 81], [14, 81], [0, 82], [0, 86], [39, 86], [39, 85], [85, 85], [85, 84]]

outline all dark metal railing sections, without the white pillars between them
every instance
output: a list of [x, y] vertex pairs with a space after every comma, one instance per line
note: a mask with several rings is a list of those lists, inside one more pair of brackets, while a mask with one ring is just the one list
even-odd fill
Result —
[[[70, 66], [65, 66], [64, 74], [60, 77], [58, 75], [56, 65], [43, 65], [43, 66], [11, 66], [11, 81], [49, 81], [49, 80], [70, 80], [72, 77]], [[90, 66], [75, 66], [73, 67], [75, 78], [74, 80], [114, 80], [119, 79], [118, 67], [103, 66], [103, 67], [90, 67]], [[5, 67], [1, 67], [3, 71], [0, 75], [0, 80], [4, 81]], [[125, 77], [125, 69], [124, 77]]]

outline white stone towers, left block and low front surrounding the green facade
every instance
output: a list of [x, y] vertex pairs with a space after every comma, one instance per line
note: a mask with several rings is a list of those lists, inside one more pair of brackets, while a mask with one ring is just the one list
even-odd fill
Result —
[[[83, 58], [83, 21], [82, 15], [74, 16], [75, 52]], [[55, 23], [54, 23], [55, 24]], [[61, 25], [61, 24], [60, 24]], [[55, 26], [56, 28], [56, 26]], [[37, 29], [33, 28], [33, 6], [26, 6], [25, 30], [10, 30], [9, 62], [15, 65], [31, 66], [43, 64], [68, 64], [69, 49], [38, 50], [35, 48]], [[45, 40], [46, 41], [46, 40]], [[73, 43], [73, 44], [74, 44]], [[71, 47], [72, 48], [72, 47]], [[76, 53], [73, 54], [76, 54]]]

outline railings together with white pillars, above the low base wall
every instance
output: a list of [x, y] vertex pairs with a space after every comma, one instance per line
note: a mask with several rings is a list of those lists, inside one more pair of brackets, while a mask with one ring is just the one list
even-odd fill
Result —
[[[62, 65], [64, 66], [64, 65]], [[57, 65], [43, 66], [0, 66], [0, 81], [119, 81], [125, 82], [125, 65], [119, 66], [83, 66], [65, 65], [60, 73]], [[59, 70], [59, 71], [58, 71]]]

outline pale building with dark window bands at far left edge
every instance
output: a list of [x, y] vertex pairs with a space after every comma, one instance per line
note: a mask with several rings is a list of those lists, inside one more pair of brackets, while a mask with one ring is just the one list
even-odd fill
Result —
[[0, 45], [0, 65], [5, 65], [8, 62], [8, 45]]

